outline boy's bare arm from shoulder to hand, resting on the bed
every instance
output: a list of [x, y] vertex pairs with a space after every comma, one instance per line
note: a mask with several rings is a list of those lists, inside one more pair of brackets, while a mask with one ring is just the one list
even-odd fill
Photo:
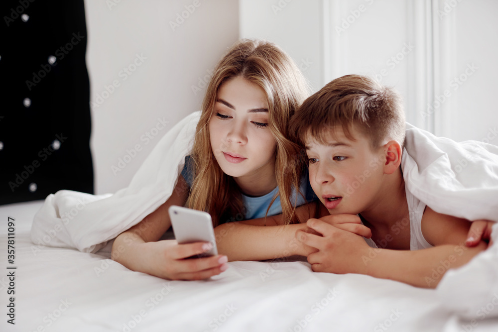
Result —
[[313, 271], [368, 274], [417, 287], [436, 287], [448, 269], [466, 264], [487, 246], [481, 242], [466, 247], [470, 223], [429, 208], [422, 219], [422, 232], [435, 246], [422, 250], [374, 249], [360, 236], [325, 221], [310, 220], [308, 226], [322, 234], [297, 232], [299, 240], [318, 250], [308, 256]]

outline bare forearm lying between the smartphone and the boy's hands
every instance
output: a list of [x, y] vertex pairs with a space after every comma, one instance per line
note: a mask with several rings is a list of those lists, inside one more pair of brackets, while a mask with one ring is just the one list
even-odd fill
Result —
[[301, 244], [296, 240], [298, 228], [305, 224], [256, 226], [228, 222], [215, 228], [218, 252], [229, 261], [266, 260], [300, 254]]

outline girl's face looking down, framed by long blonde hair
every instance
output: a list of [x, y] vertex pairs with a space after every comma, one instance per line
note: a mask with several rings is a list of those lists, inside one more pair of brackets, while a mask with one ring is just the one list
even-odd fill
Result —
[[[209, 121], [211, 147], [223, 172], [241, 184], [275, 179], [276, 142], [264, 91], [237, 76], [218, 90]], [[276, 181], [271, 183], [273, 188]]]

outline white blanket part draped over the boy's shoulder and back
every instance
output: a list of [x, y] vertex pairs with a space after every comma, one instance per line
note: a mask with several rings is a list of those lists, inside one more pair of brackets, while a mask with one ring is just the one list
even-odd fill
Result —
[[[403, 176], [410, 193], [436, 212], [498, 221], [498, 147], [457, 143], [406, 124]], [[408, 156], [407, 156], [408, 157]]]

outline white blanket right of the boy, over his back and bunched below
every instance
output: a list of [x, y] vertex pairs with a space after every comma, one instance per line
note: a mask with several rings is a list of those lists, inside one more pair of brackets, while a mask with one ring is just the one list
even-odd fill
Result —
[[[498, 147], [457, 143], [409, 124], [406, 128], [409, 156], [403, 176], [408, 190], [436, 212], [498, 221]], [[462, 317], [498, 317], [498, 223], [492, 238], [493, 246], [446, 272], [437, 287], [445, 306]]]

